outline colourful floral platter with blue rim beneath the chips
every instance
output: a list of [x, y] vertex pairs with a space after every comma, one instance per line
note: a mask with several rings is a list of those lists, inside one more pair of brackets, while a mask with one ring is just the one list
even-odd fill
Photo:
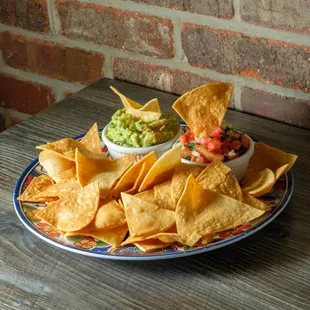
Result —
[[[24, 172], [24, 176], [21, 180], [17, 182], [17, 186], [15, 188], [15, 197], [20, 195], [27, 186], [30, 184], [31, 180], [40, 175], [46, 173], [44, 168], [38, 163], [38, 161], [34, 161], [32, 165], [28, 166], [28, 168]], [[186, 247], [184, 245], [175, 243], [171, 245], [169, 248], [155, 250], [151, 253], [144, 253], [139, 248], [135, 246], [125, 246], [119, 248], [112, 248], [108, 244], [103, 241], [97, 240], [92, 237], [84, 237], [84, 236], [75, 236], [66, 238], [62, 232], [54, 229], [49, 224], [42, 222], [40, 219], [36, 218], [35, 214], [38, 210], [44, 207], [43, 203], [21, 203], [14, 198], [15, 209], [19, 214], [19, 217], [22, 217], [22, 222], [32, 231], [34, 231], [39, 237], [43, 237], [43, 239], [51, 240], [59, 245], [65, 246], [66, 248], [76, 249], [79, 253], [88, 252], [95, 253], [99, 256], [103, 257], [107, 256], [126, 256], [126, 257], [139, 257], [144, 256], [166, 256], [170, 254], [178, 254], [184, 252], [192, 252], [199, 249], [204, 249], [208, 247], [212, 247], [215, 244], [221, 244], [225, 241], [233, 240], [242, 237], [244, 233], [248, 233], [251, 230], [256, 229], [260, 225], [264, 225], [268, 219], [273, 219], [277, 213], [279, 213], [283, 209], [284, 205], [287, 203], [290, 194], [292, 192], [292, 176], [290, 176], [291, 180], [289, 182], [289, 178], [287, 175], [283, 175], [276, 182], [275, 186], [272, 190], [261, 197], [260, 199], [266, 204], [270, 205], [272, 210], [262, 217], [250, 222], [244, 223], [243, 225], [231, 229], [228, 231], [217, 233], [213, 236], [213, 240], [210, 243], [200, 242], [194, 247]], [[290, 187], [290, 188], [289, 188]], [[279, 211], [280, 210], [280, 211]], [[241, 238], [240, 238], [241, 239]], [[229, 244], [231, 242], [227, 242]], [[56, 244], [56, 245], [57, 245]], [[85, 254], [85, 253], [84, 253]], [[177, 257], [177, 256], [176, 256]], [[130, 258], [128, 258], [130, 259]]]

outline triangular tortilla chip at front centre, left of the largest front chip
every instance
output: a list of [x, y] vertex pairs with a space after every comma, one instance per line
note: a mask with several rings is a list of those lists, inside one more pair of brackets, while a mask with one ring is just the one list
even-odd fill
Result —
[[175, 223], [174, 212], [136, 196], [122, 193], [128, 228], [132, 237], [150, 236], [169, 229]]

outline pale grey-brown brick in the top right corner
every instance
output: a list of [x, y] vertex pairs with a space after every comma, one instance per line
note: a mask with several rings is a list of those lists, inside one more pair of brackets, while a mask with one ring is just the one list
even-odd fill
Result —
[[240, 14], [263, 27], [310, 33], [309, 0], [241, 0]]

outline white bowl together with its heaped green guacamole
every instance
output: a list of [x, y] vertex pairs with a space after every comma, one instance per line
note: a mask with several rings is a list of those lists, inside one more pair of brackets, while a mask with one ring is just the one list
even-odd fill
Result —
[[159, 157], [169, 150], [181, 134], [177, 117], [161, 113], [157, 120], [143, 121], [125, 109], [114, 113], [102, 131], [102, 140], [112, 158], [137, 153], [139, 158], [155, 151]]

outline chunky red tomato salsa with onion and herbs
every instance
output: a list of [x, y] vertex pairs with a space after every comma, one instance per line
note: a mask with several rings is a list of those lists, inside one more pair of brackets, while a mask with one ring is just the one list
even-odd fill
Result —
[[250, 146], [250, 139], [244, 133], [226, 125], [199, 137], [187, 128], [179, 142], [182, 145], [181, 157], [199, 164], [214, 159], [227, 162], [246, 153]]

